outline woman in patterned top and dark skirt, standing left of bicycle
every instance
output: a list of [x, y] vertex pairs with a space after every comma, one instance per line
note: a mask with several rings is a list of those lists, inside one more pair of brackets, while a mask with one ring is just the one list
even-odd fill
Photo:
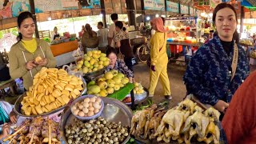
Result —
[[130, 70], [134, 71], [134, 53], [130, 46], [129, 34], [126, 32], [126, 28], [123, 26], [121, 21], [115, 22], [115, 30], [115, 46], [118, 49], [118, 52], [124, 54], [124, 62], [126, 62], [126, 66], [128, 66]]

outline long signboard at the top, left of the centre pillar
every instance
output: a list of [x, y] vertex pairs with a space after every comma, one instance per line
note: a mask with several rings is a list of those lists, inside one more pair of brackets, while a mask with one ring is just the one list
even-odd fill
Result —
[[100, 0], [43, 0], [34, 1], [35, 13], [55, 10], [75, 10], [78, 8], [100, 8]]

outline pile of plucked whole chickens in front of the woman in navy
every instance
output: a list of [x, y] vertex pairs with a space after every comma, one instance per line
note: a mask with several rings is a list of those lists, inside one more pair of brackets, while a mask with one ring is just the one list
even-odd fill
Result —
[[137, 138], [154, 139], [158, 142], [219, 143], [220, 130], [217, 126], [220, 113], [213, 107], [202, 110], [195, 102], [186, 98], [170, 110], [152, 105], [135, 112], [130, 133]]

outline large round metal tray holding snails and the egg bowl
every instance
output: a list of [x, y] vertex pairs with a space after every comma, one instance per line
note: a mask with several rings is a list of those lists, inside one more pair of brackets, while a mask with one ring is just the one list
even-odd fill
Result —
[[[118, 101], [114, 98], [103, 98], [104, 109], [102, 111], [101, 117], [105, 118], [108, 122], [122, 122], [123, 126], [130, 126], [131, 118], [133, 117], [132, 110], [125, 103]], [[69, 126], [74, 122], [74, 115], [71, 113], [70, 108], [62, 115], [62, 120], [60, 123], [62, 130], [62, 140], [67, 143], [65, 126]], [[127, 136], [123, 144], [126, 144], [130, 139], [130, 135]]]

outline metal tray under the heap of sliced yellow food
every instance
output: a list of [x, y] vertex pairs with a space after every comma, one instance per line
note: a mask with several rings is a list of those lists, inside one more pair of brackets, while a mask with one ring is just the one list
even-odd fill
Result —
[[[85, 93], [86, 93], [86, 90], [87, 90], [85, 83], [82, 84], [82, 87], [83, 87], [83, 90], [82, 90], [80, 96], [81, 96], [82, 94], [85, 94]], [[58, 112], [58, 111], [60, 111], [60, 110], [63, 110], [63, 109], [66, 107], [66, 105], [64, 105], [64, 106], [62, 106], [62, 107], [59, 107], [58, 109], [51, 110], [51, 111], [48, 112], [48, 113], [42, 113], [42, 114], [36, 114], [36, 115], [26, 115], [26, 114], [22, 114], [22, 104], [21, 104], [21, 102], [22, 102], [23, 97], [25, 97], [25, 96], [26, 96], [26, 93], [24, 93], [24, 94], [22, 94], [21, 96], [19, 96], [18, 99], [16, 100], [15, 104], [14, 104], [14, 112], [15, 112], [16, 114], [22, 116], [22, 117], [34, 118], [34, 117], [39, 117], [39, 116], [47, 116], [47, 115], [50, 115], [50, 114], [54, 114], [54, 113], [56, 113], [56, 112]], [[80, 96], [78, 96], [78, 98], [79, 98]]]

